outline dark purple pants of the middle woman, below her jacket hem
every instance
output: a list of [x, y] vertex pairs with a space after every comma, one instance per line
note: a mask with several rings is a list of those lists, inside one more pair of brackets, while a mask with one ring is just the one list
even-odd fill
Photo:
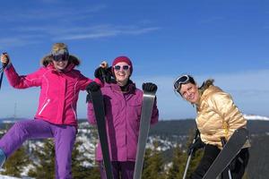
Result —
[[[100, 178], [107, 179], [105, 166], [101, 161], [98, 161], [99, 169], [100, 169]], [[134, 177], [134, 161], [126, 161], [126, 162], [119, 162], [119, 161], [112, 161], [112, 172], [114, 179], [133, 179]]]

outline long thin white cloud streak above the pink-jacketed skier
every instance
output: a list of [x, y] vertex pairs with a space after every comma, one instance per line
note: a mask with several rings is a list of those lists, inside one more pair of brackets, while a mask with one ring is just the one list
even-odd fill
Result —
[[11, 32], [13, 31], [13, 34], [10, 34], [9, 37], [6, 36], [0, 39], [0, 48], [22, 47], [25, 45], [41, 43], [44, 42], [44, 38], [47, 40], [50, 39], [51, 41], [108, 38], [122, 35], [140, 35], [154, 30], [160, 30], [160, 28], [140, 27], [134, 25], [77, 25], [69, 28], [60, 25], [21, 26], [13, 28], [13, 30], [11, 30]]

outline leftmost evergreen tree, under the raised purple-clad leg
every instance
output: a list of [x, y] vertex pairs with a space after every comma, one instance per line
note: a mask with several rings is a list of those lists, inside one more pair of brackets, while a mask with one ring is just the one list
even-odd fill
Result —
[[12, 175], [21, 177], [24, 167], [28, 166], [30, 163], [30, 158], [26, 152], [25, 147], [17, 149], [10, 158], [7, 158], [4, 163], [3, 175]]

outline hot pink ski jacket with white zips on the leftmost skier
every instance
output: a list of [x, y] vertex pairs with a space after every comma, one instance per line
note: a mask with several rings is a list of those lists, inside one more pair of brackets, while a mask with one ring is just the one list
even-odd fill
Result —
[[[92, 80], [74, 70], [74, 66], [69, 64], [65, 72], [59, 72], [52, 64], [48, 64], [36, 72], [19, 76], [13, 64], [10, 64], [4, 72], [13, 88], [40, 87], [36, 119], [43, 119], [51, 124], [77, 126], [76, 105], [79, 91], [85, 90]], [[98, 79], [95, 81], [102, 85]]]

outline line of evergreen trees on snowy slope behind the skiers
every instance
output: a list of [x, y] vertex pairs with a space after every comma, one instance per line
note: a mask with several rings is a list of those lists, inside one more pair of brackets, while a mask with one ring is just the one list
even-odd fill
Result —
[[[193, 141], [194, 132], [188, 134], [186, 145], [177, 144], [172, 150], [169, 161], [163, 151], [159, 149], [159, 141], [153, 142], [153, 147], [146, 149], [143, 164], [143, 179], [181, 179], [187, 164], [187, 146]], [[89, 139], [90, 140], [90, 139]], [[85, 158], [83, 153], [87, 149], [79, 149], [82, 141], [77, 140], [72, 154], [72, 174], [74, 179], [100, 179], [97, 163], [90, 158]], [[42, 145], [36, 145], [29, 151], [27, 145], [23, 145], [7, 159], [2, 169], [2, 175], [22, 177], [27, 175], [36, 179], [55, 178], [55, 149], [52, 140], [42, 141]], [[188, 167], [187, 178], [195, 170], [203, 150], [198, 150], [192, 157]], [[85, 166], [85, 162], [91, 166]], [[25, 172], [25, 169], [28, 169]], [[247, 175], [244, 176], [247, 179]]]

